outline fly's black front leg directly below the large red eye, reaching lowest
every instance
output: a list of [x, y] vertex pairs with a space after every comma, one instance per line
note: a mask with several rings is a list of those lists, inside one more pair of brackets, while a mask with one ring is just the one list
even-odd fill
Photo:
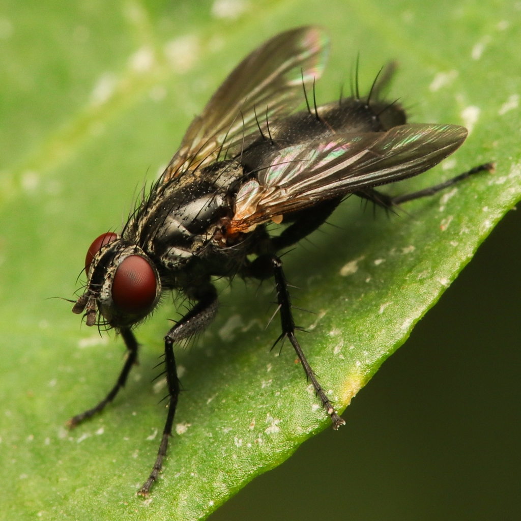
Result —
[[179, 397], [180, 385], [177, 377], [176, 358], [173, 355], [173, 343], [192, 335], [201, 332], [214, 319], [217, 313], [217, 292], [215, 288], [211, 287], [208, 293], [187, 313], [175, 326], [168, 331], [165, 337], [165, 373], [168, 384], [168, 395], [170, 402], [168, 404], [168, 415], [166, 418], [165, 428], [163, 429], [163, 437], [159, 445], [156, 462], [154, 468], [145, 481], [144, 485], [139, 490], [138, 494], [148, 495], [154, 481], [157, 481], [161, 468], [163, 467], [163, 460], [166, 456], [168, 447], [168, 438], [172, 433], [173, 417], [176, 414], [177, 400]]

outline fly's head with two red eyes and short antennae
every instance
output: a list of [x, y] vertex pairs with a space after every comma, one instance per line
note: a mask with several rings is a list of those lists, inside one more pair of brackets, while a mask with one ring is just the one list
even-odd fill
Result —
[[[86, 324], [130, 327], [152, 312], [161, 295], [154, 263], [135, 244], [116, 233], [104, 233], [85, 257], [86, 291], [72, 308], [85, 313]], [[102, 319], [103, 317], [103, 319]]]

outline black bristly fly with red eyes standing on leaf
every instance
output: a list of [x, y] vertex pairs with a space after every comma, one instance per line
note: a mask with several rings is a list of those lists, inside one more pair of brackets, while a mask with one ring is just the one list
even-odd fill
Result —
[[[316, 230], [349, 194], [392, 209], [492, 169], [481, 165], [399, 197], [377, 191], [378, 185], [439, 163], [463, 143], [467, 130], [407, 123], [402, 106], [382, 98], [392, 64], [368, 95], [358, 94], [356, 82], [350, 97], [317, 106], [315, 80], [327, 54], [325, 34], [308, 26], [282, 32], [246, 56], [192, 121], [179, 150], [122, 231], [100, 235], [86, 255], [87, 284], [72, 311], [83, 313], [88, 326], [119, 332], [128, 357], [106, 398], [70, 419], [70, 427], [100, 412], [125, 385], [138, 355], [133, 328], [162, 295], [176, 290], [192, 302], [164, 338], [169, 406], [142, 495], [158, 478], [176, 413], [180, 383], [173, 344], [214, 319], [218, 299], [212, 277], [275, 279], [281, 318], [277, 342], [287, 338], [293, 345], [337, 429], [345, 422], [295, 337], [299, 328], [278, 252]], [[296, 111], [304, 102], [307, 109]], [[288, 226], [272, 236], [270, 222]]]

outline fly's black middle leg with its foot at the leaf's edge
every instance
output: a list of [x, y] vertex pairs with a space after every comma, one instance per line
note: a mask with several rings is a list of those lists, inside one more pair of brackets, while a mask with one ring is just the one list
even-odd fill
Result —
[[[324, 389], [317, 380], [313, 369], [309, 365], [302, 348], [295, 337], [295, 329], [299, 329], [295, 326], [293, 320], [293, 314], [291, 313], [291, 299], [288, 291], [288, 283], [284, 278], [284, 272], [282, 271], [282, 261], [276, 255], [262, 255], [257, 257], [250, 267], [250, 275], [256, 278], [266, 278], [266, 276], [272, 275], [275, 277], [275, 287], [277, 290], [277, 303], [280, 309], [280, 322], [282, 326], [282, 333], [280, 334], [277, 342], [288, 338], [291, 345], [296, 351], [297, 356], [302, 362], [304, 373], [308, 380], [311, 380], [315, 392], [322, 402], [322, 407], [327, 411], [331, 417], [333, 423], [333, 429], [337, 430], [341, 425], [345, 425], [345, 421], [337, 414], [332, 406], [329, 398], [326, 395]], [[275, 342], [275, 343], [277, 343]]]

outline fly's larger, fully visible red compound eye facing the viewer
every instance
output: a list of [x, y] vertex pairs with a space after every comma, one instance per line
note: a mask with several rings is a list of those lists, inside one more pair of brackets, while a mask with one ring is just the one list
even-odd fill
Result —
[[118, 267], [112, 283], [112, 300], [120, 311], [142, 314], [156, 298], [156, 274], [148, 261], [129, 255]]

